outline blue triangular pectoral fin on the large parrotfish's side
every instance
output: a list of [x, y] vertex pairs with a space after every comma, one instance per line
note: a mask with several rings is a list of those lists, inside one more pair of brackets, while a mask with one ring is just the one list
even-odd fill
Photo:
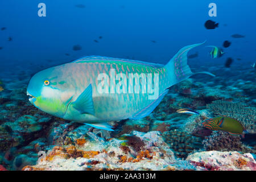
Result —
[[84, 92], [72, 103], [73, 107], [80, 111], [81, 114], [95, 114], [92, 99], [92, 84], [90, 84]]

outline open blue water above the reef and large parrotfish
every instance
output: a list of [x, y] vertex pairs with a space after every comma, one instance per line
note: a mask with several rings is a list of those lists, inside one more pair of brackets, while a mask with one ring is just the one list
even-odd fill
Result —
[[[227, 51], [243, 62], [255, 61], [256, 2], [249, 1], [44, 1], [46, 17], [38, 16], [41, 1], [1, 1], [1, 64], [50, 66], [86, 55], [127, 56], [136, 60], [167, 63], [183, 46], [207, 40], [208, 45], [232, 42]], [[209, 17], [208, 5], [217, 5], [217, 17]], [[85, 8], [75, 5], [83, 4]], [[211, 19], [220, 27], [207, 30]], [[224, 26], [227, 24], [227, 26]], [[234, 39], [232, 34], [245, 35]], [[12, 42], [7, 37], [13, 38]], [[94, 42], [102, 36], [99, 43]], [[152, 43], [155, 40], [156, 43]], [[80, 44], [81, 51], [73, 51]], [[210, 60], [201, 47], [199, 60]], [[193, 50], [195, 51], [195, 50]], [[64, 53], [69, 53], [66, 56]], [[53, 60], [48, 63], [47, 60]], [[0, 69], [3, 69], [1, 67]]]

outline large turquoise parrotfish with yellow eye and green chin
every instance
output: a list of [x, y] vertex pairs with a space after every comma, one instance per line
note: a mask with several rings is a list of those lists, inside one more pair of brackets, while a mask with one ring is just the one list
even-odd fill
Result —
[[172, 85], [195, 75], [187, 65], [187, 53], [201, 44], [181, 48], [166, 65], [82, 57], [36, 73], [27, 95], [31, 104], [48, 114], [113, 131], [109, 121], [146, 117]]

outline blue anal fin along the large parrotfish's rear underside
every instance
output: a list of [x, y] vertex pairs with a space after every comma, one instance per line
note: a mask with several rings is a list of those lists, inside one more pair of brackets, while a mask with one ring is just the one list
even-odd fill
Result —
[[152, 101], [150, 105], [144, 107], [142, 110], [138, 111], [138, 113], [134, 114], [131, 118], [129, 119], [141, 119], [152, 113], [152, 111], [155, 109], [156, 106], [160, 104], [162, 101], [163, 97], [168, 93], [169, 89], [164, 90], [163, 93], [159, 95], [156, 100]]

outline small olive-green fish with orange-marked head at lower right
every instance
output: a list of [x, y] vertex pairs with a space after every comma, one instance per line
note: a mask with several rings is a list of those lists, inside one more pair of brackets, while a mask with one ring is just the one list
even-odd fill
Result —
[[202, 125], [210, 130], [226, 131], [231, 135], [242, 135], [242, 137], [247, 133], [239, 121], [229, 117], [210, 118], [205, 120]]

